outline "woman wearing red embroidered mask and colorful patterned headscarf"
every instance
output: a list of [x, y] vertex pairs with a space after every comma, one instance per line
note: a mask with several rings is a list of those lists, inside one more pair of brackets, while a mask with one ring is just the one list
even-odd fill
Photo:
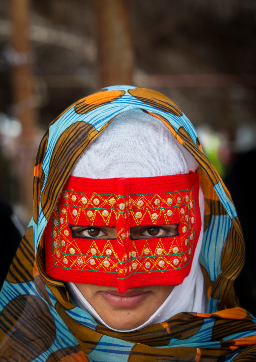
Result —
[[1, 294], [3, 360], [253, 361], [256, 324], [232, 287], [243, 258], [229, 193], [181, 110], [103, 89], [39, 147], [33, 220]]

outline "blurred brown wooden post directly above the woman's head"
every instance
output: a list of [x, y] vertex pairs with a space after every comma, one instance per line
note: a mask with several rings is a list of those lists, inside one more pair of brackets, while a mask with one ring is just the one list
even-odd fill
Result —
[[134, 50], [127, 0], [94, 0], [100, 86], [133, 85]]

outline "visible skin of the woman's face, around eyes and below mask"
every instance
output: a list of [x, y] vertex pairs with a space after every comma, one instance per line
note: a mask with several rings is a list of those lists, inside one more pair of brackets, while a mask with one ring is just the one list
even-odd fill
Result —
[[[80, 237], [114, 238], [115, 227], [72, 227]], [[178, 234], [178, 224], [135, 227], [131, 230], [134, 239]], [[154, 285], [131, 288], [118, 293], [116, 287], [76, 283], [86, 300], [103, 321], [114, 329], [129, 330], [145, 323], [163, 304], [174, 285]]]

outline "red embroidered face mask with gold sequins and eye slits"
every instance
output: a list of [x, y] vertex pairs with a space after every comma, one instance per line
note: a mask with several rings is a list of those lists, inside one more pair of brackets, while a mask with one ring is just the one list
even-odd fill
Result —
[[[178, 234], [133, 239], [138, 226], [176, 224]], [[75, 236], [72, 226], [116, 227], [115, 239]], [[45, 229], [54, 279], [127, 289], [181, 284], [201, 231], [199, 177], [69, 177]]]

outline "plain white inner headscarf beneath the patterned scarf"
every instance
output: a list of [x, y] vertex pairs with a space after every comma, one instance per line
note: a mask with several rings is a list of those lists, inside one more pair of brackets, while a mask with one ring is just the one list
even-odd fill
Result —
[[[88, 178], [150, 177], [196, 171], [198, 163], [174, 138], [160, 119], [141, 109], [119, 114], [108, 128], [86, 149], [72, 176]], [[176, 285], [159, 309], [141, 326], [131, 330], [109, 327], [88, 303], [75, 283], [67, 282], [71, 298], [100, 323], [117, 332], [133, 332], [161, 323], [180, 312], [207, 310], [204, 278], [199, 265], [203, 239], [204, 195], [200, 188], [202, 228], [189, 275]]]

